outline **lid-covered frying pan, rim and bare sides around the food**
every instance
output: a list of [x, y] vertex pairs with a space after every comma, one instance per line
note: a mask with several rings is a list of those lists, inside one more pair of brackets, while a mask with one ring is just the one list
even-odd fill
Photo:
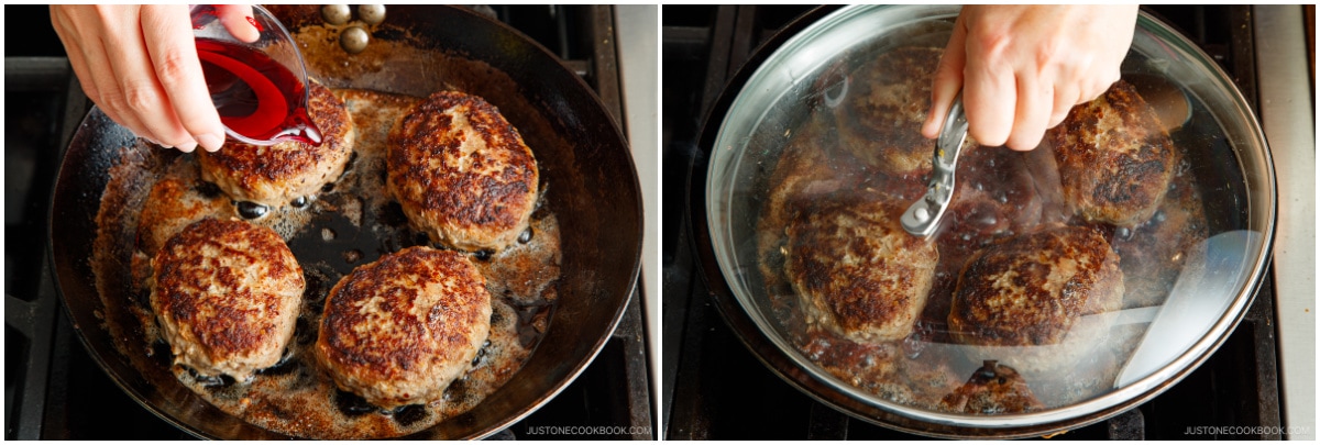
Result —
[[[828, 86], [817, 82], [829, 72], [822, 67], [846, 58], [847, 51], [862, 46], [858, 43], [862, 39], [892, 49], [908, 42], [904, 38], [935, 36], [920, 42], [944, 45], [956, 13], [954, 7], [945, 5], [822, 7], [755, 51], [708, 115], [698, 142], [708, 157], [698, 158], [696, 165], [698, 170], [706, 167], [706, 174], [689, 176], [688, 201], [693, 212], [689, 222], [701, 275], [721, 316], [758, 359], [804, 394], [857, 419], [936, 437], [1047, 436], [1109, 419], [1176, 384], [1225, 341], [1261, 286], [1278, 205], [1269, 146], [1241, 92], [1208, 55], [1150, 14], [1138, 17], [1129, 58], [1137, 63], [1125, 62], [1125, 75], [1167, 68], [1167, 76], [1176, 80], [1195, 105], [1187, 124], [1171, 133], [1171, 138], [1177, 145], [1196, 147], [1197, 158], [1189, 162], [1188, 174], [1205, 192], [1204, 224], [1213, 234], [1205, 242], [1209, 248], [1201, 258], [1204, 263], [1197, 266], [1218, 270], [1209, 258], [1226, 258], [1230, 265], [1228, 273], [1216, 273], [1204, 282], [1195, 273], [1185, 275], [1185, 280], [1180, 275], [1176, 287], [1193, 294], [1213, 288], [1228, 298], [1221, 300], [1222, 309], [1197, 320], [1201, 329], [1193, 330], [1197, 334], [1189, 346], [1164, 354], [1159, 366], [1147, 367], [1158, 370], [1143, 371], [1140, 378], [1110, 392], [1027, 413], [935, 412], [878, 398], [822, 370], [785, 340], [785, 329], [774, 312], [777, 308], [767, 298], [771, 291], [766, 291], [767, 279], [756, 267], [756, 240], [748, 234], [755, 234], [755, 219], [768, 190], [766, 180], [789, 141], [788, 130], [799, 134], [795, 125], [803, 120], [795, 118], [809, 116], [814, 96], [830, 100], [825, 96], [830, 90], [817, 88]], [[940, 29], [945, 33], [932, 32]], [[1184, 266], [1183, 274], [1195, 270]], [[1201, 305], [1210, 303], [1204, 295], [1193, 298]], [[1156, 332], [1155, 327], [1150, 329]], [[1196, 328], [1177, 324], [1177, 329]]]

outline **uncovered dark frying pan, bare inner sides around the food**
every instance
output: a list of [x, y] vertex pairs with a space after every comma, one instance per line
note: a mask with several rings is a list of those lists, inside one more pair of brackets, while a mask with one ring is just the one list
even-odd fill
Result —
[[[480, 438], [525, 417], [562, 391], [609, 340], [627, 307], [642, 249], [642, 200], [628, 144], [591, 90], [544, 47], [516, 30], [447, 7], [391, 7], [371, 45], [396, 54], [362, 58], [319, 30], [317, 7], [273, 8], [296, 34], [309, 71], [335, 88], [425, 96], [457, 88], [499, 107], [533, 147], [549, 184], [546, 204], [561, 232], [561, 276], [549, 329], [512, 380], [474, 409], [408, 438]], [[310, 36], [310, 37], [309, 37]], [[325, 46], [325, 47], [321, 47]], [[397, 51], [399, 47], [409, 51]], [[335, 53], [338, 51], [338, 53]], [[389, 51], [381, 51], [389, 53]], [[92, 274], [98, 208], [110, 171], [135, 154], [136, 138], [92, 109], [57, 175], [50, 249], [57, 288], [91, 357], [125, 392], [178, 428], [206, 438], [282, 438], [210, 406], [168, 370], [141, 373], [116, 350]], [[120, 228], [128, 237], [133, 228]], [[128, 258], [112, 266], [127, 271]], [[107, 295], [107, 298], [131, 298]]]

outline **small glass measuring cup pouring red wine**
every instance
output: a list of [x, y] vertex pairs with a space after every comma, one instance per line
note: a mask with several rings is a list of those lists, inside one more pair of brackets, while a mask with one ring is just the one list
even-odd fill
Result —
[[197, 55], [224, 133], [251, 145], [321, 145], [293, 37], [265, 8], [252, 5], [242, 18], [228, 8], [239, 7], [190, 7]]

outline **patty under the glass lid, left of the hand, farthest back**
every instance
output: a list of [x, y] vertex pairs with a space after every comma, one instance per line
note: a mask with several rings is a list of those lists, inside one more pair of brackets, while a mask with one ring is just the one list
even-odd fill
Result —
[[834, 108], [843, 149], [891, 174], [929, 171], [935, 141], [921, 136], [921, 122], [941, 53], [899, 47], [854, 70]]

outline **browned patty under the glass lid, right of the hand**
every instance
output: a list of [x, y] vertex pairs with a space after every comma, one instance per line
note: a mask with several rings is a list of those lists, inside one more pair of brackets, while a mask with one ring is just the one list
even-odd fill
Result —
[[1148, 220], [1173, 179], [1173, 142], [1123, 80], [1073, 107], [1045, 140], [1055, 150], [1064, 200], [1090, 221], [1131, 226]]

